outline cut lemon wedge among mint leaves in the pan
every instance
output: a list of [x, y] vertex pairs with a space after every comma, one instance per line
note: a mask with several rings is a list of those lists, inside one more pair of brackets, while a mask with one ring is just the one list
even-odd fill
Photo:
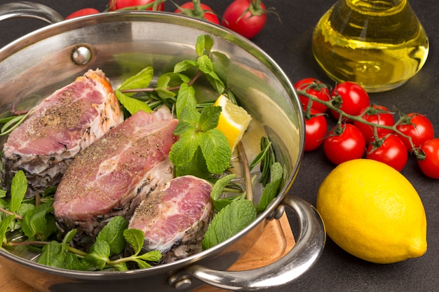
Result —
[[245, 109], [234, 104], [224, 95], [219, 95], [214, 105], [222, 108], [217, 129], [227, 137], [231, 151], [234, 151], [236, 144], [241, 141], [245, 130], [247, 130], [252, 117]]

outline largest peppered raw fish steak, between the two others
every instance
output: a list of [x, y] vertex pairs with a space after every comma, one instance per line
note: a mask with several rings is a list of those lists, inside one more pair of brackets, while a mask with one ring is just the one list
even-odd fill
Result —
[[168, 155], [177, 123], [166, 106], [138, 111], [76, 156], [53, 208], [60, 229], [77, 228], [78, 246], [93, 243], [113, 216], [128, 220], [151, 189], [173, 177]]

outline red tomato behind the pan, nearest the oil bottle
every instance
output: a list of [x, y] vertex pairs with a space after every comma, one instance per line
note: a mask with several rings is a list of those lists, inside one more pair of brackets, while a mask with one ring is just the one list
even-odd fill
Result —
[[235, 0], [224, 11], [221, 25], [252, 39], [266, 22], [266, 8], [260, 0]]

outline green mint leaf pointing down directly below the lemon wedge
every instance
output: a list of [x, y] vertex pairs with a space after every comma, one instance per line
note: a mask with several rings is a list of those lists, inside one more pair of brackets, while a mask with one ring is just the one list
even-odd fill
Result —
[[227, 138], [217, 129], [208, 130], [203, 134], [201, 151], [213, 174], [222, 174], [230, 165], [231, 148]]

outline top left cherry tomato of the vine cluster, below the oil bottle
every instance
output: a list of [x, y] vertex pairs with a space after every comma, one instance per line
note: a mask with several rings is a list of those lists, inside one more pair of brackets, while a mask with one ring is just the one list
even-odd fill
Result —
[[[311, 86], [311, 87], [310, 87]], [[314, 78], [304, 78], [295, 83], [296, 90], [304, 90], [306, 93], [317, 97], [320, 100], [327, 102], [330, 100], [330, 92], [327, 89], [327, 86], [324, 85], [321, 81], [318, 81]], [[306, 106], [309, 103], [309, 98], [304, 95], [299, 95], [300, 102], [302, 102], [303, 106]], [[313, 101], [311, 104], [311, 109], [315, 109], [319, 113], [324, 113], [327, 110], [327, 106], [325, 104], [320, 104], [318, 102]]]

